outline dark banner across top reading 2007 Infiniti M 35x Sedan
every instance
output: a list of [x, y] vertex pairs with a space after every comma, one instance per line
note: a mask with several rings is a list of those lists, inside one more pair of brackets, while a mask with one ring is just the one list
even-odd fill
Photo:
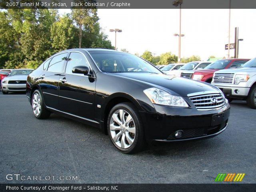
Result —
[[255, 9], [256, 0], [0, 0], [1, 9]]

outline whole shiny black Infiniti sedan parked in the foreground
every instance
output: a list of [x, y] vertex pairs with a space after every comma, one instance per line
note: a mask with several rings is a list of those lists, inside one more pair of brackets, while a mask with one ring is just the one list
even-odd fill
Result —
[[53, 112], [99, 127], [123, 153], [141, 150], [146, 141], [216, 136], [230, 114], [217, 87], [168, 76], [113, 50], [59, 52], [29, 74], [26, 86], [36, 118]]

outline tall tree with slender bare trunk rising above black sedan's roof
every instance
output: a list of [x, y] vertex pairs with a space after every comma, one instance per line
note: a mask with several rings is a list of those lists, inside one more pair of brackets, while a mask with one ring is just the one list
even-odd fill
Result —
[[94, 31], [94, 25], [99, 20], [96, 8], [72, 9], [71, 16], [79, 28], [79, 48], [82, 46], [82, 33]]

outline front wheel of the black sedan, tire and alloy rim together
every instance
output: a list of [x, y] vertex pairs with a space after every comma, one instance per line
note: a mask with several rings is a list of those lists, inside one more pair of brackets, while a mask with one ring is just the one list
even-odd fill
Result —
[[144, 130], [140, 114], [129, 102], [117, 104], [108, 115], [108, 135], [122, 153], [135, 153], [144, 146]]

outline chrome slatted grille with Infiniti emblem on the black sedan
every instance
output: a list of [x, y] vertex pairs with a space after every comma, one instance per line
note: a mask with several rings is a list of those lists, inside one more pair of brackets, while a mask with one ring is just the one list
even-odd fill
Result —
[[189, 98], [198, 110], [216, 110], [226, 105], [220, 93], [201, 94]]

